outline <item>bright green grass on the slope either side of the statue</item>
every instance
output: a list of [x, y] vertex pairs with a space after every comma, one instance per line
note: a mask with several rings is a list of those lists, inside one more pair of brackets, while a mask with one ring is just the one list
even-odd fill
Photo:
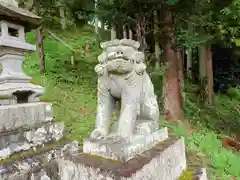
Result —
[[[68, 138], [82, 142], [83, 138], [89, 136], [95, 124], [97, 79], [93, 68], [101, 50], [92, 28], [54, 32], [77, 51], [84, 51], [84, 43], [88, 41], [92, 46], [91, 55], [84, 56], [80, 53], [73, 68], [70, 63], [71, 51], [46, 36], [46, 73], [39, 74], [39, 58], [36, 53], [27, 55], [24, 70], [33, 77], [33, 83], [45, 87], [45, 95], [41, 99], [53, 104], [55, 120], [64, 121], [69, 132]], [[28, 41], [35, 42], [32, 33], [29, 33]], [[157, 82], [154, 81], [155, 88], [160, 90], [160, 83]], [[199, 107], [196, 97], [188, 93], [184, 110], [194, 127], [192, 133], [192, 130], [183, 124], [173, 125], [160, 121], [176, 136], [185, 137], [189, 163], [200, 161], [202, 166], [207, 166], [211, 180], [229, 180], [234, 177], [240, 179], [240, 155], [223, 148], [219, 138], [220, 134], [234, 136], [239, 130], [239, 92], [231, 90], [228, 96], [218, 95], [214, 107]]]

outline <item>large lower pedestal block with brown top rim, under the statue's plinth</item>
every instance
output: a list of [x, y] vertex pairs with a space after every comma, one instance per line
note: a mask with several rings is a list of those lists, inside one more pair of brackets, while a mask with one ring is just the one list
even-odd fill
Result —
[[186, 169], [183, 138], [169, 138], [127, 162], [89, 154], [58, 162], [61, 180], [177, 180]]

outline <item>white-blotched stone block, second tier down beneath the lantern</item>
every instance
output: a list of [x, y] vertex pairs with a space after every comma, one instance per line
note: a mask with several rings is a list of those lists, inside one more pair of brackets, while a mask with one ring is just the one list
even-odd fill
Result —
[[47, 123], [40, 127], [29, 130], [15, 131], [13, 133], [0, 135], [0, 159], [43, 146], [52, 141], [58, 141], [63, 137], [63, 123]]

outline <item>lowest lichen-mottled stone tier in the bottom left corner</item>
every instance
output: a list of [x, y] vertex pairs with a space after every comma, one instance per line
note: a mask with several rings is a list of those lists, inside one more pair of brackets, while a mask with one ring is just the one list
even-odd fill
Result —
[[[79, 150], [77, 141], [40, 152], [34, 156], [0, 165], [1, 180], [56, 180], [59, 169], [54, 169], [55, 160], [66, 154], [76, 155]], [[57, 164], [58, 165], [58, 164]], [[49, 171], [50, 170], [50, 171]], [[54, 174], [54, 175], [53, 175]], [[56, 176], [57, 175], [57, 178]], [[42, 179], [41, 179], [42, 178]], [[44, 179], [46, 178], [46, 179]]]

